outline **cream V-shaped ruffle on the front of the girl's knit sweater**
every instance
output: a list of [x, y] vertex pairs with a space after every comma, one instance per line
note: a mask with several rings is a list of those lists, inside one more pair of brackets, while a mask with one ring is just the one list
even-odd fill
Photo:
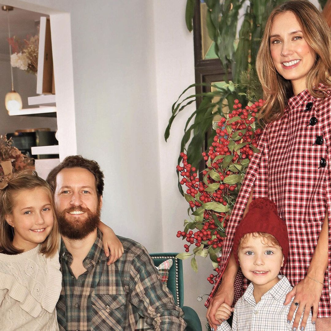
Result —
[[31, 295], [31, 289], [27, 289], [20, 284], [14, 276], [0, 272], [0, 289], [7, 289], [8, 295], [18, 301], [20, 307], [33, 317], [38, 317], [42, 309], [50, 313], [53, 312], [62, 288], [62, 274], [60, 272], [58, 253], [52, 258], [44, 258], [43, 256], [39, 258], [42, 260], [40, 262], [46, 262], [45, 268], [47, 270], [46, 284], [44, 284], [43, 295], [39, 301]]

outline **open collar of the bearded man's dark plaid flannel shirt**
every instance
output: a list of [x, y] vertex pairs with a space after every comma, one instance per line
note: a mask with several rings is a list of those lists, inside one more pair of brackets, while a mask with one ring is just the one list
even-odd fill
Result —
[[[92, 270], [92, 268], [101, 261], [103, 257], [103, 242], [102, 242], [102, 233], [97, 230], [97, 239], [95, 240], [93, 246], [91, 247], [89, 253], [83, 260], [83, 265], [87, 271]], [[72, 255], [67, 250], [67, 247], [64, 241], [61, 239], [61, 248], [60, 248], [60, 259], [65, 259], [67, 264], [70, 265], [72, 262]], [[61, 261], [60, 261], [61, 262]]]

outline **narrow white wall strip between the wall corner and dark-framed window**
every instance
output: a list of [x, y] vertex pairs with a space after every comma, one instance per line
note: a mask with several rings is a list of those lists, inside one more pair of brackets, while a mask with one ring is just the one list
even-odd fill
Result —
[[[193, 32], [185, 25], [186, 1], [170, 0], [154, 2], [157, 109], [159, 114], [160, 179], [162, 198], [163, 240], [165, 252], [184, 252], [187, 244], [176, 237], [183, 229], [189, 207], [177, 188], [176, 165], [180, 152], [180, 141], [184, 133], [187, 118], [195, 110], [195, 104], [179, 114], [170, 130], [170, 137], [165, 142], [164, 132], [171, 115], [171, 105], [180, 93], [195, 82]], [[171, 18], [171, 19], [170, 19]], [[194, 94], [192, 89], [186, 96]], [[209, 293], [211, 285], [207, 277], [211, 273], [211, 261], [197, 258], [198, 273], [191, 268], [190, 260], [183, 261], [184, 301], [186, 306], [194, 308], [206, 324], [205, 298], [198, 302], [196, 298]]]

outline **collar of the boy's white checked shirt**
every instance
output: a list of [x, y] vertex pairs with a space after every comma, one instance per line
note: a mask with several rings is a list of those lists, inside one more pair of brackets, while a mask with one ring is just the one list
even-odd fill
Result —
[[[291, 287], [291, 284], [288, 281], [288, 279], [283, 275], [278, 275], [278, 278], [280, 279], [279, 282], [275, 284], [268, 292], [264, 293], [261, 297], [261, 300], [265, 296], [271, 295], [275, 300], [281, 303], [284, 302], [284, 297], [289, 292], [289, 288]], [[256, 302], [253, 295], [253, 291], [254, 291], [254, 285], [250, 283], [243, 295], [243, 299], [246, 300], [249, 304], [255, 306]]]

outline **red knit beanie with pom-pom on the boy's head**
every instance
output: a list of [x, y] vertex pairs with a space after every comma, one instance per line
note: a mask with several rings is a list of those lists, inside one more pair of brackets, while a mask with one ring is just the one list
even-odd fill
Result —
[[233, 239], [233, 254], [238, 261], [238, 246], [240, 239], [248, 233], [265, 232], [274, 236], [283, 250], [284, 265], [289, 255], [289, 236], [287, 226], [277, 212], [276, 205], [267, 198], [253, 200], [247, 214], [239, 223]]

